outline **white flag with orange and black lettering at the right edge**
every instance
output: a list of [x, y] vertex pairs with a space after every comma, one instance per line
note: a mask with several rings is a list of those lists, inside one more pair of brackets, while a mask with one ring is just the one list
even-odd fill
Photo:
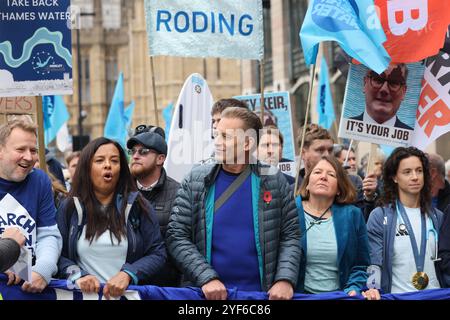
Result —
[[450, 55], [440, 53], [427, 64], [412, 139], [422, 150], [450, 131]]

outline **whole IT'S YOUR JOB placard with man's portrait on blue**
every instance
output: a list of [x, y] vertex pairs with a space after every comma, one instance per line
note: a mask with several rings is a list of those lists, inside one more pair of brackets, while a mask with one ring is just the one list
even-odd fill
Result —
[[381, 74], [361, 64], [350, 65], [338, 136], [408, 146], [424, 71], [422, 62], [390, 64]]

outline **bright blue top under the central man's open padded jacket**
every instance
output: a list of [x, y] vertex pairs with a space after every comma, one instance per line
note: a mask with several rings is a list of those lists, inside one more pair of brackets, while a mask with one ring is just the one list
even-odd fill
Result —
[[[219, 172], [215, 184], [215, 201], [237, 177], [223, 170]], [[261, 291], [251, 176], [214, 213], [211, 264], [226, 287]]]

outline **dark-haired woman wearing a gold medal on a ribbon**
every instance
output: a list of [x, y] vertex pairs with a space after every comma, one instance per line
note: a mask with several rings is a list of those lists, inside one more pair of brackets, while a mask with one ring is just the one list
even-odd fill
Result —
[[431, 206], [428, 159], [414, 147], [397, 148], [383, 172], [383, 206], [367, 222], [370, 260], [363, 295], [403, 293], [441, 287], [437, 259], [442, 212]]

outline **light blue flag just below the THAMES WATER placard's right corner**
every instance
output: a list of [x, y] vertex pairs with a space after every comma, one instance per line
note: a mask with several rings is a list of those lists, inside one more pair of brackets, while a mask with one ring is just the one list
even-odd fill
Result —
[[42, 109], [44, 113], [45, 146], [52, 142], [61, 127], [69, 121], [70, 114], [61, 96], [43, 96]]

